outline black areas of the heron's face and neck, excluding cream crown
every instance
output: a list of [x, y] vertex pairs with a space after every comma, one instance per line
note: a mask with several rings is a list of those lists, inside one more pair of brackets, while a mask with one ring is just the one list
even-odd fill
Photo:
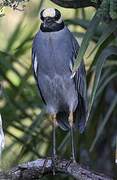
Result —
[[61, 18], [61, 13], [55, 9], [55, 16], [43, 16], [45, 9], [41, 11], [40, 18], [43, 21], [41, 24], [40, 29], [43, 32], [53, 32], [53, 31], [59, 31], [64, 28], [64, 23], [61, 21], [60, 23], [57, 23], [58, 20]]

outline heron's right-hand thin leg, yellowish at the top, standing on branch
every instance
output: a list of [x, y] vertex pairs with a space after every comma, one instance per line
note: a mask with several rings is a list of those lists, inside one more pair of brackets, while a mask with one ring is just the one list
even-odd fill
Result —
[[69, 124], [70, 124], [70, 134], [71, 134], [71, 149], [72, 149], [72, 161], [76, 162], [75, 160], [75, 146], [74, 146], [74, 129], [73, 129], [73, 112], [69, 114]]

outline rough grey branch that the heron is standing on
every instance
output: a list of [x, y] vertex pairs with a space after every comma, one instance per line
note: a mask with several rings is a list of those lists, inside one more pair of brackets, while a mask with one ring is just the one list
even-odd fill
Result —
[[[64, 173], [68, 176], [71, 175], [79, 180], [112, 180], [106, 175], [94, 172], [92, 170], [82, 167], [78, 163], [72, 163], [68, 160], [56, 160], [55, 163], [56, 174]], [[2, 180], [36, 180], [46, 174], [52, 174], [52, 160], [38, 159], [32, 162], [27, 162], [8, 172], [0, 172], [0, 179]]]

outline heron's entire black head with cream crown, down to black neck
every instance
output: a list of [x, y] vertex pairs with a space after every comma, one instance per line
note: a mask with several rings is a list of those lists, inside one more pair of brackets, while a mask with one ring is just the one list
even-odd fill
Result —
[[47, 8], [40, 13], [41, 30], [44, 32], [59, 31], [64, 28], [61, 13], [57, 9]]

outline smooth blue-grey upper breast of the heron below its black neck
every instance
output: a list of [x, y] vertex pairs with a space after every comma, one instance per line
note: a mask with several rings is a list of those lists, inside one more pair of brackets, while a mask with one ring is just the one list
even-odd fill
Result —
[[68, 73], [72, 59], [71, 39], [59, 33], [48, 33], [40, 35], [38, 45], [39, 68], [49, 73]]

